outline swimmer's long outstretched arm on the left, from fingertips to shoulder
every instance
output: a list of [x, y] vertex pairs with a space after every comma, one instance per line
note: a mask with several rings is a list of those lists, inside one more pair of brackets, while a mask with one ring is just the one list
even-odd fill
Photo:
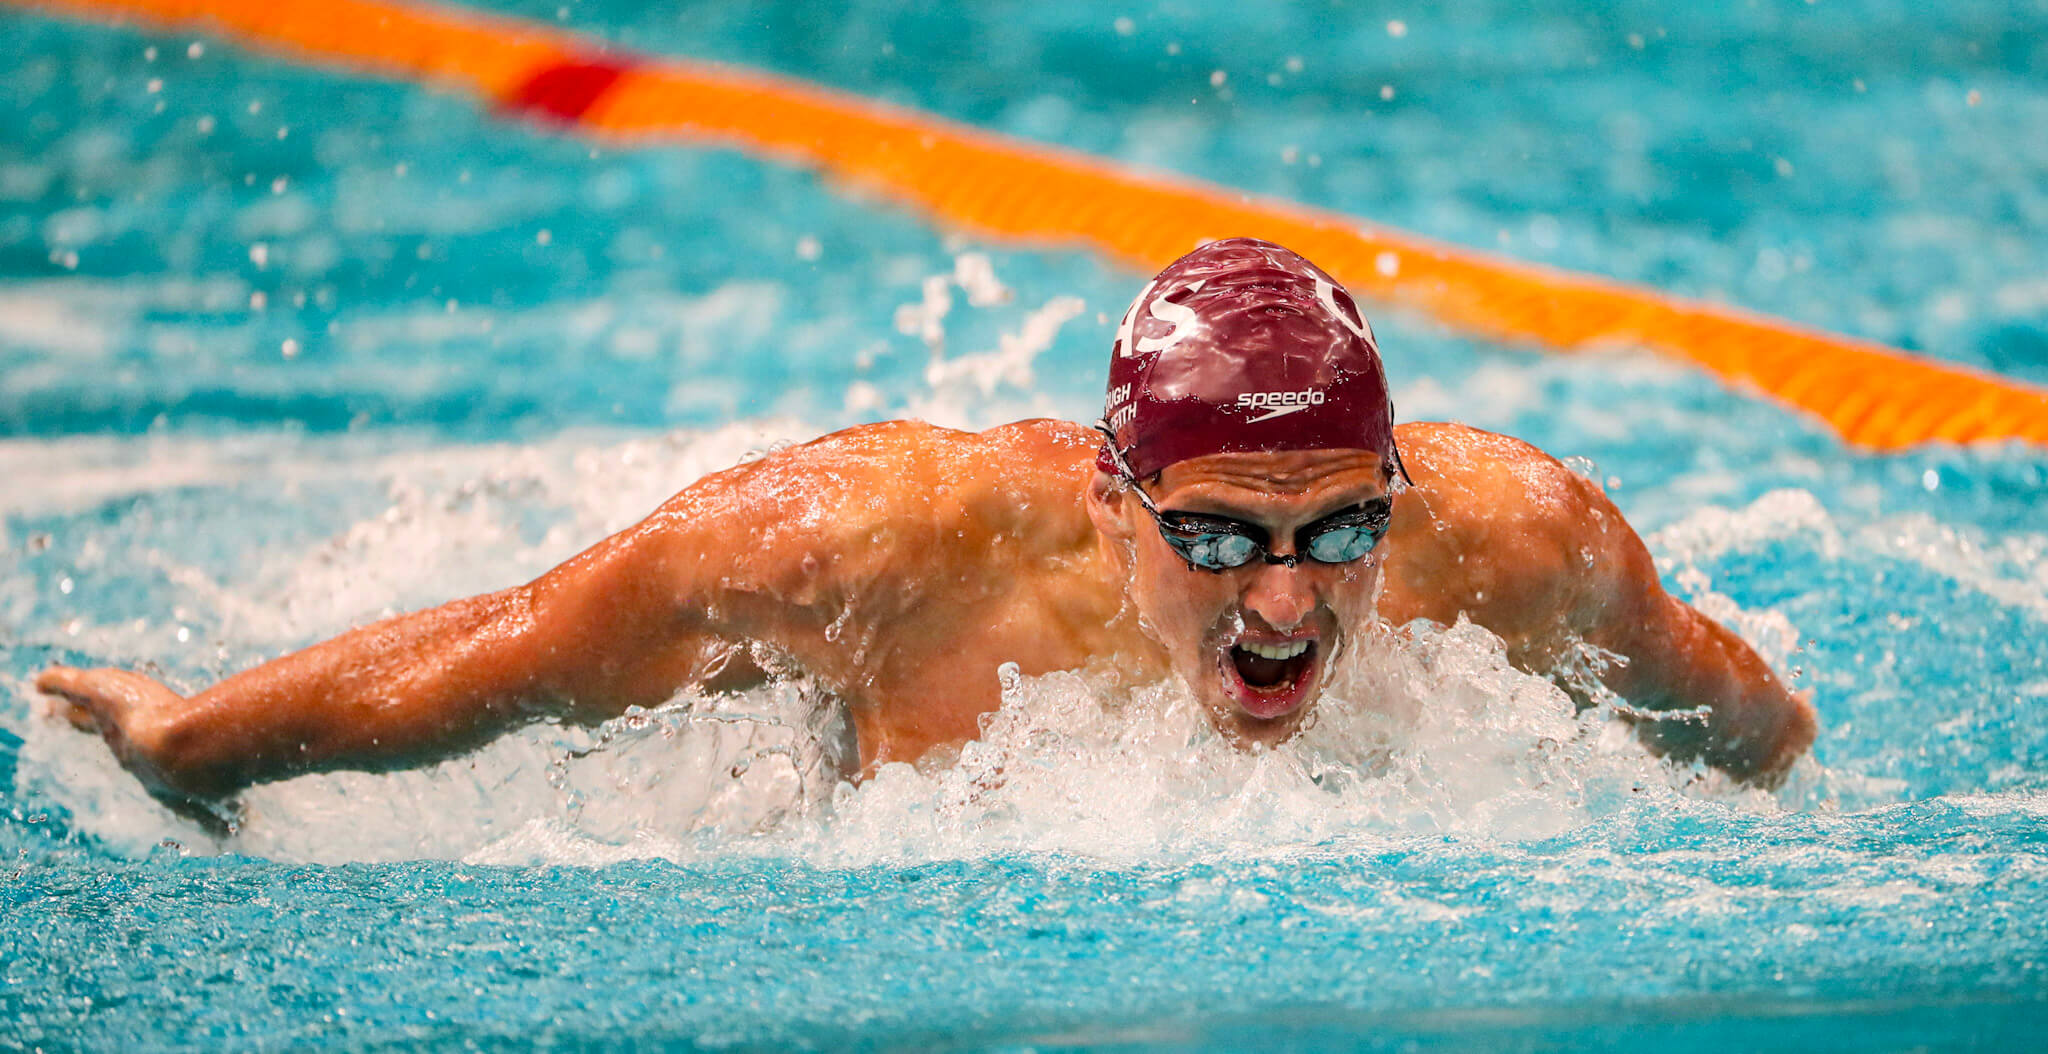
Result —
[[717, 677], [735, 641], [852, 677], [825, 628], [866, 632], [850, 598], [891, 542], [920, 542], [877, 497], [915, 471], [918, 444], [881, 428], [705, 477], [526, 585], [362, 626], [190, 698], [123, 669], [53, 667], [37, 688], [154, 792], [203, 800], [444, 757], [537, 716], [655, 706]]

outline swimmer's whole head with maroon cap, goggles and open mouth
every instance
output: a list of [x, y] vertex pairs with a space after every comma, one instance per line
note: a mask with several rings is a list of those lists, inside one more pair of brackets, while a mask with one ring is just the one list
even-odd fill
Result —
[[1090, 516], [1147, 634], [1227, 735], [1294, 735], [1372, 618], [1405, 475], [1358, 305], [1270, 241], [1202, 246], [1124, 315], [1102, 430]]

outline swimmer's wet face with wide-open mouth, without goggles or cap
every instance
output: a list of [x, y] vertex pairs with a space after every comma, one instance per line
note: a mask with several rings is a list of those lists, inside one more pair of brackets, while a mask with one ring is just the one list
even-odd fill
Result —
[[[1268, 553], [1296, 555], [1296, 532], [1386, 497], [1378, 454], [1294, 450], [1208, 454], [1147, 483], [1163, 514], [1221, 516], [1257, 526]], [[1190, 569], [1135, 495], [1098, 475], [1096, 524], [1128, 553], [1130, 600], [1174, 669], [1239, 743], [1278, 743], [1315, 706], [1348, 630], [1372, 618], [1382, 540], [1352, 563], [1260, 559], [1227, 571]]]

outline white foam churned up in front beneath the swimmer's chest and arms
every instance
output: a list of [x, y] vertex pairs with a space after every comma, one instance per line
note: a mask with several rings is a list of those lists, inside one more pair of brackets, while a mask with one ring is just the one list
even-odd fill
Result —
[[152, 804], [94, 739], [51, 720], [23, 729], [20, 780], [131, 851], [174, 837], [328, 864], [762, 853], [860, 866], [1012, 851], [1139, 862], [1284, 855], [1333, 839], [1511, 843], [1671, 806], [1688, 782], [1716, 808], [1776, 808], [1606, 735], [1608, 714], [1575, 716], [1477, 626], [1380, 628], [1350, 655], [1315, 724], [1264, 751], [1231, 747], [1171, 684], [1008, 673], [1001, 710], [954, 763], [885, 765], [858, 788], [836, 780], [834, 710], [801, 682], [682, 698], [596, 731], [539, 724], [416, 772], [260, 786], [225, 841]]

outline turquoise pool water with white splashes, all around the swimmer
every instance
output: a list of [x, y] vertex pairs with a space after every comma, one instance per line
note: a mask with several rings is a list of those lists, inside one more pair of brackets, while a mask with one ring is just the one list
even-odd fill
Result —
[[[2038, 0], [498, 10], [2048, 383]], [[1405, 420], [1583, 458], [1667, 585], [1815, 690], [1784, 790], [1661, 767], [1454, 628], [1360, 673], [1427, 704], [1386, 765], [1335, 716], [1239, 757], [1167, 692], [1106, 714], [1047, 677], [958, 767], [856, 790], [780, 686], [258, 788], [215, 841], [29, 677], [197, 688], [844, 424], [1087, 418], [1141, 276], [207, 37], [4, 8], [0, 70], [0, 1046], [2048, 1023], [2048, 454], [1862, 454], [1683, 368], [1384, 307]]]

